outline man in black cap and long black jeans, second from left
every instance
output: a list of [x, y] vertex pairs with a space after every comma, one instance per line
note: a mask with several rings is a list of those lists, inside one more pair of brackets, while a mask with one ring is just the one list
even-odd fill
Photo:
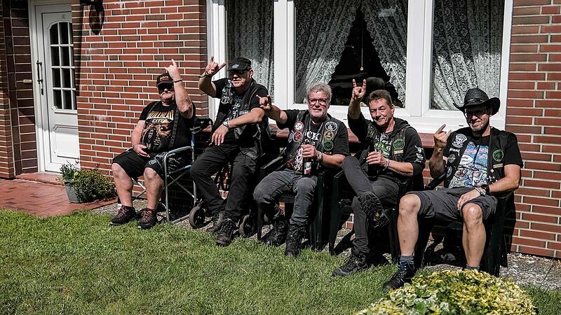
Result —
[[[237, 57], [228, 66], [228, 78], [212, 81], [226, 63], [210, 62], [198, 80], [198, 88], [210, 97], [220, 99], [218, 114], [212, 127], [210, 146], [191, 167], [191, 178], [205, 198], [214, 223], [211, 232], [217, 232], [217, 245], [228, 246], [238, 230], [241, 209], [255, 181], [257, 160], [263, 153], [262, 141], [268, 138], [269, 125], [264, 111], [259, 108], [259, 96], [267, 90], [253, 80], [251, 61]], [[224, 202], [212, 180], [228, 162], [234, 163], [230, 176], [230, 190]], [[222, 220], [219, 220], [223, 214]]]

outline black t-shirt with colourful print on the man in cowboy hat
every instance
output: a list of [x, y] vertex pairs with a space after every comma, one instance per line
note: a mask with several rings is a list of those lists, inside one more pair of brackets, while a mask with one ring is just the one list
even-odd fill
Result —
[[[453, 137], [448, 137], [446, 147], [442, 155], [449, 157], [450, 147], [455, 146], [458, 148], [459, 144], [468, 141], [468, 146], [461, 155], [461, 160], [458, 165], [454, 177], [450, 181], [448, 188], [457, 187], [480, 187], [487, 182], [487, 166], [489, 158], [489, 136], [473, 138], [466, 137], [464, 134], [456, 134]], [[465, 140], [467, 138], [467, 140]], [[454, 145], [455, 144], [455, 145]], [[454, 157], [457, 155], [454, 155]], [[453, 162], [450, 161], [449, 162]], [[506, 148], [503, 153], [503, 165], [520, 165], [522, 167], [522, 156], [520, 155], [520, 148], [518, 148], [518, 140], [514, 134], [508, 134], [506, 138]]]

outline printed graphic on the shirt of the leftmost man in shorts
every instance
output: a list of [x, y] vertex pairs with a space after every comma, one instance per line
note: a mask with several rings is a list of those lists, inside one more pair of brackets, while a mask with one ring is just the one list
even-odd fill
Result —
[[154, 106], [144, 123], [141, 142], [147, 146], [149, 153], [159, 153], [168, 149], [173, 130], [173, 119], [175, 118], [175, 106], [165, 108]]

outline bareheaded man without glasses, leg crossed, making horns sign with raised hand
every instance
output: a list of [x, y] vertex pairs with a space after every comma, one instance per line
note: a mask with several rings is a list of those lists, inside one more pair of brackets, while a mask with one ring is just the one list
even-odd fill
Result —
[[387, 90], [374, 90], [367, 96], [372, 121], [365, 119], [360, 99], [366, 90], [367, 80], [362, 87], [353, 80], [349, 127], [364, 147], [360, 154], [345, 158], [342, 168], [356, 193], [351, 204], [356, 237], [351, 255], [333, 276], [347, 276], [370, 267], [369, 232], [388, 223], [384, 210], [396, 207], [412, 176], [421, 174], [425, 167], [421, 138], [407, 121], [393, 116], [396, 106]]

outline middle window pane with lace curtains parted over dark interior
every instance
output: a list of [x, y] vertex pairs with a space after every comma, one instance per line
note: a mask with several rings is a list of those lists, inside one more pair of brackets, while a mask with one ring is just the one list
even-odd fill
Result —
[[[329, 83], [332, 104], [347, 105], [353, 78], [370, 78], [367, 92], [385, 88], [405, 102], [407, 0], [296, 1], [295, 102]], [[314, 31], [310, 31], [310, 30]]]

